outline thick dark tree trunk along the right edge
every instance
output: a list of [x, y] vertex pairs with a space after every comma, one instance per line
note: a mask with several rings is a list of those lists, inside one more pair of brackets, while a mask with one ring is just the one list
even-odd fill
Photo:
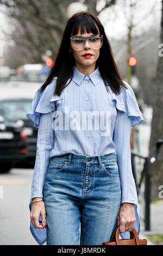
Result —
[[[161, 12], [161, 30], [160, 43], [163, 42], [163, 0]], [[159, 49], [159, 48], [158, 48]], [[159, 49], [160, 50], [160, 49]], [[158, 56], [158, 64], [156, 68], [156, 81], [154, 83], [155, 94], [153, 95], [153, 119], [151, 141], [149, 144], [149, 159], [155, 149], [155, 143], [163, 136], [163, 56]], [[160, 154], [155, 163], [148, 163], [152, 175], [152, 200], [159, 199], [159, 186], [163, 184], [163, 161], [162, 161], [163, 147], [160, 148]]]

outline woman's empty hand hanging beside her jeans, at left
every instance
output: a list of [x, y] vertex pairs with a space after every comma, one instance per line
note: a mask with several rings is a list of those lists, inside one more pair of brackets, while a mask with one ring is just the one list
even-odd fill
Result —
[[[33, 201], [42, 199], [42, 197], [34, 197]], [[41, 215], [42, 225], [39, 223], [39, 216]], [[30, 218], [35, 228], [46, 228], [46, 211], [45, 211], [45, 204], [43, 201], [32, 203], [32, 208], [30, 211]]]

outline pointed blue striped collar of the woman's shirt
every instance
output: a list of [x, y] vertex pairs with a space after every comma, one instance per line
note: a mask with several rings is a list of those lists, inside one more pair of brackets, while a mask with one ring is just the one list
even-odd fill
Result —
[[72, 80], [78, 84], [78, 86], [80, 85], [80, 83], [83, 81], [83, 79], [85, 78], [85, 76], [90, 77], [92, 83], [94, 86], [96, 86], [96, 84], [102, 80], [102, 76], [101, 73], [99, 72], [98, 66], [97, 69], [95, 71], [93, 71], [90, 75], [84, 75], [82, 72], [80, 72], [77, 68], [76, 65], [73, 66], [73, 78]]

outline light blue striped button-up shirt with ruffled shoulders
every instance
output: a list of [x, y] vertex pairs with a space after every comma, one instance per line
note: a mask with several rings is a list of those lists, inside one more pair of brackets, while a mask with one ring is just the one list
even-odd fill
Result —
[[[109, 87], [108, 93], [98, 68], [90, 75], [84, 75], [74, 65], [73, 72], [71, 83], [68, 84], [69, 79], [60, 96], [53, 95], [57, 77], [43, 92], [39, 88], [27, 113], [39, 129], [30, 203], [34, 197], [43, 197], [42, 187], [51, 157], [67, 153], [84, 156], [117, 153], [121, 203], [134, 203], [134, 227], [139, 233], [139, 205], [131, 169], [130, 131], [143, 117], [133, 89], [123, 81], [128, 89], [121, 86], [122, 92], [116, 95]], [[30, 230], [39, 245], [45, 243], [46, 228], [35, 229], [30, 221]], [[121, 237], [129, 238], [129, 232], [122, 233]]]

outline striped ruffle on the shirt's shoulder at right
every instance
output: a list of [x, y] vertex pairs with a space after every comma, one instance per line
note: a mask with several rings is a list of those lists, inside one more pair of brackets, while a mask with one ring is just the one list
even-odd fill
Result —
[[123, 81], [128, 89], [121, 86], [121, 93], [116, 95], [111, 90], [112, 101], [115, 100], [116, 108], [120, 111], [123, 111], [125, 114], [131, 118], [131, 129], [134, 125], [139, 124], [143, 121], [143, 115], [138, 106], [135, 94], [133, 89], [129, 86], [126, 81]]

